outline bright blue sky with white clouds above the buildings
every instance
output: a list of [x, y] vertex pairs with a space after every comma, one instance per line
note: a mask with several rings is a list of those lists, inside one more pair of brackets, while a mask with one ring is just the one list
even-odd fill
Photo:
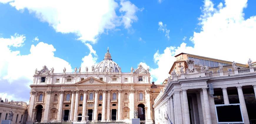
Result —
[[0, 96], [27, 101], [35, 68], [90, 70], [107, 47], [123, 72], [142, 64], [158, 84], [181, 52], [256, 60], [253, 0], [58, 2], [0, 0], [0, 86], [17, 91]]

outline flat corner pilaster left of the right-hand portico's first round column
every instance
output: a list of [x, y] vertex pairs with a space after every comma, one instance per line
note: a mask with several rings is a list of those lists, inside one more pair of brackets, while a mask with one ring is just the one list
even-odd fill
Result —
[[182, 113], [181, 113], [179, 91], [174, 91], [174, 98], [175, 98], [176, 118], [177, 118], [177, 121], [175, 120], [175, 124], [182, 124]]

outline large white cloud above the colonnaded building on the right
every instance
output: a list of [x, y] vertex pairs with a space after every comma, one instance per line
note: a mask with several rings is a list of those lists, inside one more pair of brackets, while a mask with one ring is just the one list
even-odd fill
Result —
[[[194, 46], [182, 43], [179, 47], [170, 46], [163, 53], [157, 51], [154, 54], [158, 68], [150, 71], [157, 83], [169, 76], [174, 56], [181, 52], [242, 64], [246, 64], [249, 58], [256, 61], [256, 16], [245, 19], [243, 9], [247, 7], [247, 0], [225, 0], [224, 4], [214, 6], [212, 1], [204, 1], [199, 17], [201, 31], [194, 32], [190, 38]], [[162, 23], [159, 26], [159, 30], [165, 31]]]

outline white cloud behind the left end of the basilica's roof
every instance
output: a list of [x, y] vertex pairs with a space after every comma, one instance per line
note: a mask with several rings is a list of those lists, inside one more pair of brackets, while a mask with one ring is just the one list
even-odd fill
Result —
[[[46, 65], [54, 72], [62, 73], [64, 67], [67, 72], [72, 71], [70, 64], [54, 56], [56, 49], [53, 45], [39, 42], [31, 45], [28, 55], [20, 55], [20, 51], [10, 48], [22, 47], [26, 37], [15, 34], [10, 38], [0, 38], [0, 95], [13, 100], [29, 100], [29, 85], [33, 83], [35, 69], [42, 69]], [[12, 48], [13, 49], [13, 48]]]

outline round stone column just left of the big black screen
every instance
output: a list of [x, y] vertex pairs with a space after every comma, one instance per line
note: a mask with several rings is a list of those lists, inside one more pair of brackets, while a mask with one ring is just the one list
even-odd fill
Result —
[[206, 122], [207, 122], [207, 124], [212, 124], [211, 108], [210, 108], [210, 102], [209, 102], [209, 98], [208, 98], [207, 88], [202, 88], [202, 90], [203, 90], [203, 95], [204, 95]]

